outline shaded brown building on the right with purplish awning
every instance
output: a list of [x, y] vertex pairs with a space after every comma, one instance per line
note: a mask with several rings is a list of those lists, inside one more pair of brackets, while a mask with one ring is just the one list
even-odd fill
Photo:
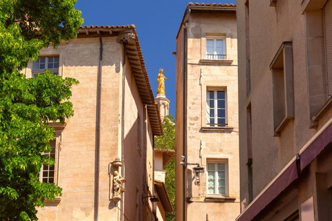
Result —
[[239, 221], [332, 218], [331, 18], [331, 0], [237, 0]]

